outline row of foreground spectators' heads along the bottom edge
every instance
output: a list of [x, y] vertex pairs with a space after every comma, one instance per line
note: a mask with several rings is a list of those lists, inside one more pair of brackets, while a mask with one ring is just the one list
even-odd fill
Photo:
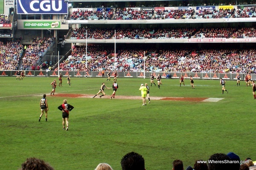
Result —
[[[242, 162], [242, 163], [241, 163]], [[207, 161], [195, 160], [195, 164], [188, 167], [184, 167], [183, 161], [175, 159], [172, 161], [172, 170], [256, 170], [255, 161], [253, 162], [250, 157], [247, 157], [244, 161], [240, 159], [238, 155], [233, 152], [214, 153]], [[147, 164], [142, 155], [136, 152], [126, 153], [121, 161], [120, 165], [122, 170], [146, 170]], [[96, 165], [95, 165], [96, 166]], [[20, 170], [54, 170], [54, 168], [42, 159], [27, 158], [25, 162], [21, 164]], [[99, 163], [95, 170], [113, 170], [111, 165], [107, 163]]]

